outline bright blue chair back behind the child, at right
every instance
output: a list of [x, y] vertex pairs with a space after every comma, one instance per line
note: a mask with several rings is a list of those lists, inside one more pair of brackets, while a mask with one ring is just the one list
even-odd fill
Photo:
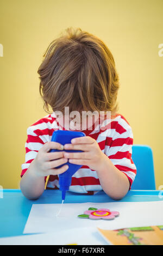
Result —
[[131, 190], [155, 190], [152, 149], [147, 145], [133, 144], [132, 150], [137, 173]]

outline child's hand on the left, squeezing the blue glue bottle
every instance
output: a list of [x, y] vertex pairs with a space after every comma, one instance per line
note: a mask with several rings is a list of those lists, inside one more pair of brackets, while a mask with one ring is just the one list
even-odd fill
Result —
[[48, 151], [51, 149], [63, 150], [64, 146], [58, 142], [47, 142], [42, 146], [33, 160], [33, 174], [36, 176], [58, 175], [68, 169], [67, 164], [61, 168], [56, 168], [68, 161], [64, 158], [64, 151], [49, 153]]

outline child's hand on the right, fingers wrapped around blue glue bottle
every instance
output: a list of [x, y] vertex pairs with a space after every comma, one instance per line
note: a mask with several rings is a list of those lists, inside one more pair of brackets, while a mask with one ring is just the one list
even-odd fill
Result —
[[71, 143], [72, 144], [65, 144], [64, 149], [82, 150], [83, 152], [64, 152], [64, 157], [69, 159], [68, 162], [86, 165], [93, 170], [101, 169], [105, 159], [105, 154], [102, 152], [101, 148], [99, 148], [95, 139], [89, 136], [84, 136], [72, 139]]

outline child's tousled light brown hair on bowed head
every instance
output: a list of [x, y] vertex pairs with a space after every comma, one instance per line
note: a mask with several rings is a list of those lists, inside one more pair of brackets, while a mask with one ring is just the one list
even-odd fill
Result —
[[48, 46], [37, 71], [43, 108], [116, 113], [119, 79], [108, 47], [81, 28], [65, 32]]

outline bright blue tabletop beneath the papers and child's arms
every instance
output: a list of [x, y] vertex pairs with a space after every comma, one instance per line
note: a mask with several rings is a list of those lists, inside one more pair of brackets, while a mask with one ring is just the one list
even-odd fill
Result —
[[[130, 190], [127, 195], [118, 202], [146, 202], [163, 200], [159, 190]], [[105, 203], [117, 202], [108, 197], [103, 191], [95, 195], [66, 193], [65, 203]], [[56, 204], [61, 203], [61, 191], [45, 190], [37, 200], [28, 200], [21, 190], [3, 190], [3, 198], [0, 198], [0, 237], [22, 235], [24, 226], [32, 208], [32, 204]]]

